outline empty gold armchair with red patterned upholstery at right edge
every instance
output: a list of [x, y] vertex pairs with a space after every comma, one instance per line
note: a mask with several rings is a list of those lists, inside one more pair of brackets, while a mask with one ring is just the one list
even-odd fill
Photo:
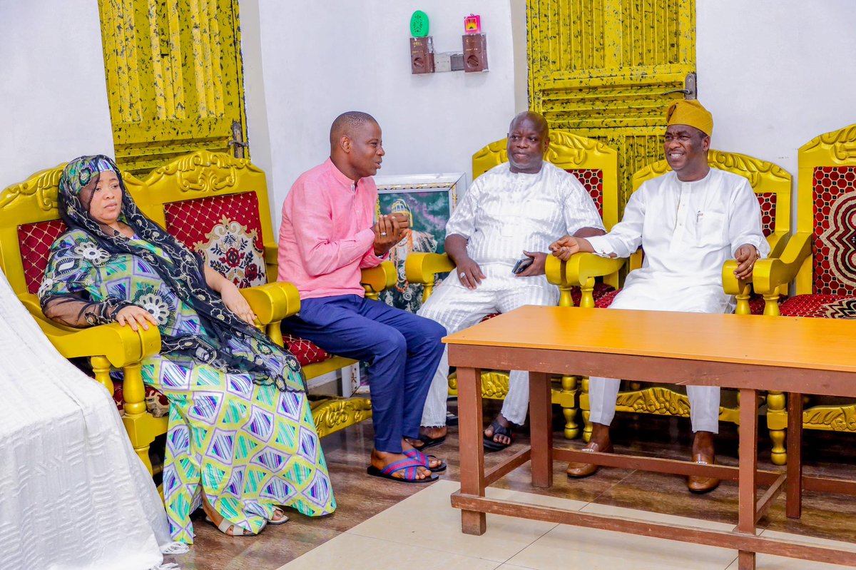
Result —
[[[856, 124], [822, 134], [798, 154], [797, 232], [779, 258], [756, 264], [752, 286], [764, 294], [764, 314], [785, 317], [856, 318]], [[794, 296], [778, 305], [794, 280]], [[785, 396], [768, 403], [773, 462], [784, 465], [788, 425]], [[856, 404], [823, 398], [806, 407], [803, 427], [856, 432]]]

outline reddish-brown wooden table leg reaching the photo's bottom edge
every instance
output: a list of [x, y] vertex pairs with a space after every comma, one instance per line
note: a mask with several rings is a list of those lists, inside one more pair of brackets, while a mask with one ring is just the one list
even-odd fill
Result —
[[[758, 409], [756, 391], [740, 389], [740, 478], [738, 480], [737, 531], [755, 534], [756, 489], [758, 487]], [[740, 550], [739, 570], [755, 570], [755, 553]]]

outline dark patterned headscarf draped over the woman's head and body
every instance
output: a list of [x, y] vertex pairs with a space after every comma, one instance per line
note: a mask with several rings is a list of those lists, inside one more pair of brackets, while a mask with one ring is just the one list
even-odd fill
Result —
[[[135, 240], [128, 240], [118, 232], [107, 229], [110, 231], [108, 235], [89, 214], [88, 205], [81, 204], [82, 190], [90, 184], [97, 183], [98, 173], [104, 170], [112, 170], [119, 179], [122, 192], [120, 214], [122, 222], [134, 229], [134, 234], [141, 240], [163, 249], [168, 258], [155, 255]], [[251, 360], [232, 352], [229, 347], [229, 338], [236, 337], [243, 340], [253, 337], [259, 341], [263, 351], [284, 353], [288, 368], [302, 377], [300, 364], [293, 354], [276, 346], [268, 336], [229, 311], [220, 295], [208, 287], [205, 282], [205, 261], [202, 257], [181, 245], [172, 235], [140, 212], [134, 199], [125, 189], [125, 182], [122, 181], [122, 174], [116, 167], [116, 163], [109, 157], [103, 155], [79, 157], [68, 163], [60, 176], [57, 201], [62, 221], [68, 225], [69, 229], [82, 229], [98, 243], [98, 246], [111, 254], [130, 253], [144, 259], [158, 272], [158, 276], [179, 299], [199, 313], [203, 327], [213, 336], [213, 338], [206, 338], [199, 335], [162, 334], [163, 353], [180, 353], [223, 371], [248, 373], [257, 384], [275, 384], [276, 388], [282, 391], [294, 390], [286, 382], [288, 371], [271, 370], [265, 367], [265, 359], [257, 357]], [[118, 302], [122, 306], [129, 304], [124, 300]], [[115, 312], [113, 314], [115, 315]], [[303, 378], [302, 389], [306, 391], [305, 378]]]

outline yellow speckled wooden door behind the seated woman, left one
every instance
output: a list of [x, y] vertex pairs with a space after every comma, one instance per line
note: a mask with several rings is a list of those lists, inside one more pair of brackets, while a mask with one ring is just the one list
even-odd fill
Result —
[[247, 132], [237, 0], [98, 5], [119, 166], [145, 175], [200, 149], [248, 157], [234, 142]]

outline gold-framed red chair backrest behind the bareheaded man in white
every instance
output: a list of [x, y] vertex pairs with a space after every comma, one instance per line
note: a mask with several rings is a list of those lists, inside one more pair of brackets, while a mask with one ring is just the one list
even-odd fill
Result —
[[[473, 179], [508, 162], [508, 140], [496, 140], [473, 154]], [[544, 160], [575, 175], [586, 187], [606, 229], [618, 222], [618, 153], [597, 140], [550, 129]]]

